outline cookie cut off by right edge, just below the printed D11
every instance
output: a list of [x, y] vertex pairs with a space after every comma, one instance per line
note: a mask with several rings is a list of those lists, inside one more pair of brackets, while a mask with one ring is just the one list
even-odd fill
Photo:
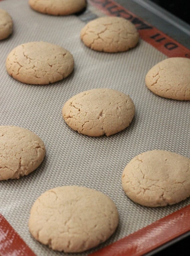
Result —
[[190, 59], [173, 57], [157, 63], [147, 73], [145, 83], [158, 96], [190, 100]]

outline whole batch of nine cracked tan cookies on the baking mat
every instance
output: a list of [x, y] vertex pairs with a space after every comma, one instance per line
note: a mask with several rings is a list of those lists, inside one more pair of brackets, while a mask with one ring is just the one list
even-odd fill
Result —
[[[29, 5], [50, 15], [70, 15], [86, 7], [85, 0], [59, 1], [62, 6], [56, 2], [29, 0]], [[0, 9], [0, 40], [12, 33], [12, 25], [10, 15]], [[127, 51], [139, 40], [130, 21], [107, 16], [88, 22], [80, 36], [87, 47], [108, 54]], [[8, 74], [26, 84], [54, 83], [68, 77], [73, 69], [72, 54], [48, 42], [18, 45], [6, 59]], [[145, 82], [158, 96], [190, 100], [190, 59], [173, 57], [157, 63], [147, 73]], [[130, 125], [135, 106], [128, 95], [99, 88], [68, 99], [62, 115], [67, 125], [79, 133], [111, 136]], [[45, 156], [43, 141], [32, 131], [17, 126], [0, 126], [0, 149], [0, 180], [28, 175]], [[143, 206], [179, 203], [190, 196], [190, 159], [164, 150], [143, 152], [126, 165], [122, 186], [132, 201]], [[35, 239], [53, 250], [82, 252], [107, 240], [118, 222], [115, 204], [103, 193], [86, 187], [62, 186], [49, 189], [36, 200], [29, 230]]]

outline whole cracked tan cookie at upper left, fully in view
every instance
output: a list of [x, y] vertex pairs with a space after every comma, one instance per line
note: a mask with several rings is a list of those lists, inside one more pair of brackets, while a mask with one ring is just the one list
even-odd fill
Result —
[[7, 56], [6, 69], [14, 79], [34, 85], [60, 81], [73, 71], [74, 59], [66, 49], [47, 42], [18, 45]]

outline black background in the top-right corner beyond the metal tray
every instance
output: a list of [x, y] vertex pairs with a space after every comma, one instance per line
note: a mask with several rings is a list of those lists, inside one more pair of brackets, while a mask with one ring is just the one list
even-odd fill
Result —
[[190, 24], [189, 0], [151, 0], [178, 18]]

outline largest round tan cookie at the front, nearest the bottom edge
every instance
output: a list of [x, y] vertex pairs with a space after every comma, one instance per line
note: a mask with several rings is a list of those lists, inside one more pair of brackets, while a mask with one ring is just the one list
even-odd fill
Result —
[[118, 226], [113, 201], [94, 189], [62, 186], [43, 193], [33, 204], [29, 230], [53, 250], [82, 252], [108, 239]]

